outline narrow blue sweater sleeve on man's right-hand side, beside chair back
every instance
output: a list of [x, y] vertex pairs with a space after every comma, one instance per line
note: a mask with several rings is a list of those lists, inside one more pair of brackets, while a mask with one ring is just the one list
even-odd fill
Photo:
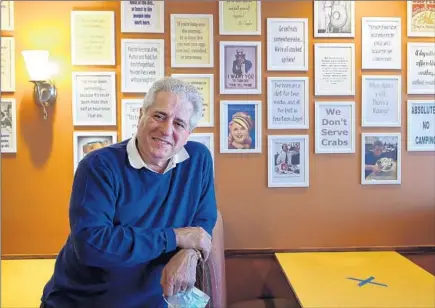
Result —
[[217, 220], [217, 206], [214, 187], [213, 159], [208, 150], [203, 167], [199, 168], [199, 170], [202, 170], [199, 175], [202, 191], [198, 210], [193, 219], [193, 226], [202, 227], [211, 236]]

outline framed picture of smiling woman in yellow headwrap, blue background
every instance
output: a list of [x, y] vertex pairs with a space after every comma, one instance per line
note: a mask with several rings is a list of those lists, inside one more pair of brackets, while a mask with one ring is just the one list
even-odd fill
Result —
[[261, 101], [220, 102], [220, 152], [262, 152]]

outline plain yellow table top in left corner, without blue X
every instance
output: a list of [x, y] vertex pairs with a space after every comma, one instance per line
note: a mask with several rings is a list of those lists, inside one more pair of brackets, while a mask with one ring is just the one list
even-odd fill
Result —
[[1, 308], [39, 308], [55, 261], [1, 260]]

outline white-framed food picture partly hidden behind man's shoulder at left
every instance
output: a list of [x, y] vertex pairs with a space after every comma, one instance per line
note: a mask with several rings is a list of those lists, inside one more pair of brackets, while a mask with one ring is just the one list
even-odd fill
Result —
[[74, 131], [74, 172], [86, 154], [117, 143], [117, 135], [116, 131]]

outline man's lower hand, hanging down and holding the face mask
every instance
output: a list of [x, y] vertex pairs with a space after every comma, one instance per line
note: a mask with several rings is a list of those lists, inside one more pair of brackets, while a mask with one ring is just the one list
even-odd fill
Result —
[[164, 296], [189, 290], [195, 285], [198, 253], [193, 249], [181, 249], [163, 268], [160, 284]]

